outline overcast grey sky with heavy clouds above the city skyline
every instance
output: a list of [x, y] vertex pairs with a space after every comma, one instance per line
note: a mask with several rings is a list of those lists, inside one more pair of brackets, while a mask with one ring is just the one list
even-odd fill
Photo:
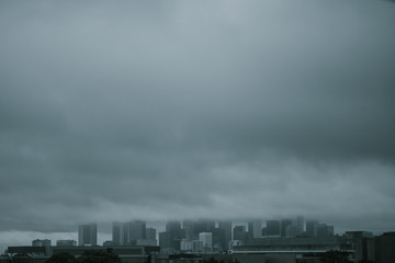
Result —
[[131, 219], [395, 230], [394, 28], [377, 0], [1, 1], [0, 244]]

